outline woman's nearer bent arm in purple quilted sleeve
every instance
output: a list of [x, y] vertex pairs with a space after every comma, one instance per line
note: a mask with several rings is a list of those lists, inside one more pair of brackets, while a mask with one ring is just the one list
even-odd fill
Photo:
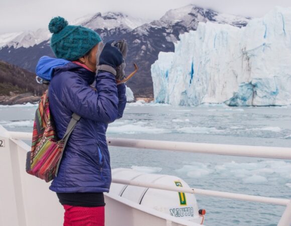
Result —
[[78, 75], [67, 77], [63, 89], [63, 101], [82, 118], [102, 123], [111, 123], [118, 117], [118, 92], [115, 76], [99, 71], [96, 89], [84, 84]]

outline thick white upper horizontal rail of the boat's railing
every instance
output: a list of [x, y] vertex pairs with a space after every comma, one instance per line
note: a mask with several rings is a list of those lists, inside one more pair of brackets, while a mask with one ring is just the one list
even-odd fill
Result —
[[[32, 133], [7, 132], [14, 139], [31, 140]], [[245, 156], [291, 160], [291, 148], [263, 147], [247, 145], [204, 144], [190, 142], [155, 141], [107, 138], [107, 144], [115, 147], [164, 150], [216, 155]]]

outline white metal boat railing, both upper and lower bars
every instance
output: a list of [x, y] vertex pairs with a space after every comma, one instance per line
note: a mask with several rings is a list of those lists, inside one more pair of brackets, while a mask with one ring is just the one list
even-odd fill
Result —
[[[10, 139], [31, 140], [32, 133], [6, 132], [5, 136], [9, 137]], [[117, 139], [117, 138], [107, 138], [107, 143], [110, 146], [116, 147], [291, 160], [291, 148], [281, 148], [281, 147], [221, 145], [221, 144], [203, 144], [203, 143], [171, 142], [155, 140]], [[244, 201], [254, 201], [261, 203], [284, 205], [286, 206], [286, 209], [283, 212], [280, 221], [277, 225], [289, 226], [291, 224], [291, 200], [288, 199], [270, 198], [196, 188], [169, 187], [161, 184], [142, 183], [136, 181], [121, 180], [116, 178], [113, 178], [112, 182], [132, 186], [194, 193], [200, 195], [208, 195]]]

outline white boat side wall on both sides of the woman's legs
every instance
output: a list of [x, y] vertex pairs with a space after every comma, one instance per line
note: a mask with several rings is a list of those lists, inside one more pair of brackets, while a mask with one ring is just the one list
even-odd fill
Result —
[[[50, 183], [26, 173], [26, 153], [30, 146], [10, 139], [0, 126], [0, 225], [51, 226], [62, 225], [64, 209]], [[199, 225], [159, 212], [137, 203], [105, 194], [106, 226]]]

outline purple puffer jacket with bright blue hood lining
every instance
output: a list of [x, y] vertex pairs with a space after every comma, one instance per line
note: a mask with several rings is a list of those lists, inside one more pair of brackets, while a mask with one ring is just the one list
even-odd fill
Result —
[[[58, 60], [52, 58], [46, 65], [58, 65]], [[41, 64], [39, 61], [38, 66]], [[68, 193], [108, 192], [111, 169], [105, 133], [108, 123], [122, 117], [126, 104], [125, 85], [116, 86], [114, 75], [100, 71], [96, 76], [95, 91], [89, 86], [95, 73], [72, 62], [54, 70], [46, 69], [53, 71], [49, 106], [58, 137], [64, 136], [73, 112], [81, 116], [50, 189]]]

